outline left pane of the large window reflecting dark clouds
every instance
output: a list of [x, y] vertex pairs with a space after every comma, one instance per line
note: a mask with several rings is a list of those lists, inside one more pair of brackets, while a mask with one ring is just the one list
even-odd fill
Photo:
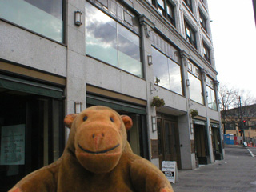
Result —
[[86, 54], [118, 66], [116, 22], [86, 2]]

